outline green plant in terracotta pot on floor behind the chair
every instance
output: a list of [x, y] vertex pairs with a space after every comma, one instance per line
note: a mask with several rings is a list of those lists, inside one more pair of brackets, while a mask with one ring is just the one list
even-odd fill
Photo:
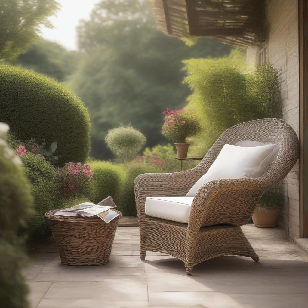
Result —
[[283, 201], [284, 197], [281, 193], [267, 190], [253, 212], [253, 224], [260, 228], [276, 227]]

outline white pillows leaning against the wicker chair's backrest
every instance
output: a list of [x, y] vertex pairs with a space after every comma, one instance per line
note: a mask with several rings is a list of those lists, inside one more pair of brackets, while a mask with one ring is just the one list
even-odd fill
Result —
[[280, 147], [256, 142], [245, 140], [237, 145], [225, 144], [208, 172], [201, 176], [186, 196], [194, 197], [198, 189], [209, 181], [260, 177], [274, 162]]

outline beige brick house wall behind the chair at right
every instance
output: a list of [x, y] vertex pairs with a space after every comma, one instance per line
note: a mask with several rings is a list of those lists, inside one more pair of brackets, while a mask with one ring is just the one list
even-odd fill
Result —
[[[299, 135], [299, 80], [298, 80], [298, 1], [267, 1], [270, 25], [268, 60], [281, 73], [283, 120]], [[247, 49], [247, 63], [257, 62], [258, 47]], [[291, 240], [299, 237], [299, 175], [298, 163], [279, 185], [286, 204], [279, 225], [286, 229]]]

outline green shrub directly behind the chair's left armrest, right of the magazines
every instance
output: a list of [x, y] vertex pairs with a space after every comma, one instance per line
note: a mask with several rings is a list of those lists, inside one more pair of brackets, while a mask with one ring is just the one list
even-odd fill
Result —
[[132, 162], [127, 170], [124, 179], [124, 186], [121, 193], [121, 200], [118, 205], [118, 210], [124, 216], [136, 216], [136, 201], [134, 191], [134, 180], [142, 173], [162, 173], [163, 170], [143, 162]]

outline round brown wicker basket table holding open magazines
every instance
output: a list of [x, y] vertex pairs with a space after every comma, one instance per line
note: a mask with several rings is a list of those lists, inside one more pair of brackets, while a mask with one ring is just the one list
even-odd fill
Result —
[[54, 234], [61, 263], [66, 265], [101, 265], [109, 261], [115, 230], [122, 217], [109, 224], [97, 216], [67, 217], [45, 213]]

